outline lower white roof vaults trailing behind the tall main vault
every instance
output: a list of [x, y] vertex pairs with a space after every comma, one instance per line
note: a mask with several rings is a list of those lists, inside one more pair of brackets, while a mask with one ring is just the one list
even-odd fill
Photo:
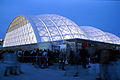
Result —
[[102, 30], [91, 26], [80, 26], [80, 28], [86, 33], [87, 37], [90, 40], [120, 44], [120, 38], [114, 34], [103, 32]]

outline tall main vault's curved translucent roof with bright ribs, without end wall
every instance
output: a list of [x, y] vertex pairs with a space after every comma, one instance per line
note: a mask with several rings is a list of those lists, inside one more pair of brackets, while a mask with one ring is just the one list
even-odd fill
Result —
[[79, 26], [65, 17], [55, 14], [45, 14], [30, 16], [30, 18], [37, 27], [41, 38], [40, 42], [72, 38], [87, 39], [86, 34]]

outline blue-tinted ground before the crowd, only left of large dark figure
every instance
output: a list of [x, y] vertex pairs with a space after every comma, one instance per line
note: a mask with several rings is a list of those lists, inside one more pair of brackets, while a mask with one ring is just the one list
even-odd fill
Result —
[[58, 64], [50, 66], [48, 69], [40, 69], [31, 65], [31, 63], [21, 63], [24, 74], [18, 76], [3, 76], [4, 65], [0, 63], [0, 80], [95, 80], [95, 73], [89, 73], [88, 69], [79, 66], [79, 76], [73, 77], [76, 72], [76, 66], [66, 65], [65, 71], [58, 69]]

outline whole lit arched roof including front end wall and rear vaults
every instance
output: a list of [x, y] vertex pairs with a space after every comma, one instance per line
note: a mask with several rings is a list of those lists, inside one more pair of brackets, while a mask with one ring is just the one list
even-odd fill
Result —
[[75, 38], [118, 44], [97, 28], [79, 27], [63, 16], [44, 14], [16, 17], [8, 27], [3, 47]]

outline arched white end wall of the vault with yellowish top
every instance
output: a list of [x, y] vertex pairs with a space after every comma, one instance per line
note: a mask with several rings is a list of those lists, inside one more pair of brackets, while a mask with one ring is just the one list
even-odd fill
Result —
[[31, 23], [23, 16], [16, 17], [8, 27], [3, 47], [36, 43]]

